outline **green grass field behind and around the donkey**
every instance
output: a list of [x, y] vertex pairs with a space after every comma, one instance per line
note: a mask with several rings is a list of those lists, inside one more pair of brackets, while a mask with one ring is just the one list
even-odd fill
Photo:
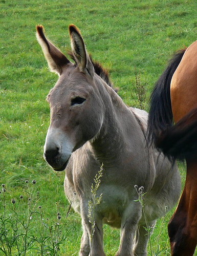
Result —
[[[63, 192], [64, 173], [55, 173], [42, 158], [50, 115], [46, 96], [57, 81], [57, 76], [49, 72], [36, 41], [36, 24], [45, 27], [48, 38], [64, 53], [70, 49], [68, 26], [75, 24], [81, 30], [87, 50], [110, 70], [114, 86], [119, 88], [119, 95], [130, 106], [137, 104], [131, 95], [135, 90], [136, 67], [140, 81], [147, 90], [145, 103], [148, 110], [151, 89], [171, 54], [189, 46], [197, 38], [197, 2], [1, 0], [0, 8], [0, 184], [5, 184], [7, 202], [3, 208], [5, 214], [11, 215], [11, 199], [16, 199], [14, 207], [17, 207], [18, 198], [23, 195], [20, 218], [25, 218], [30, 207], [28, 195], [32, 191], [32, 202], [37, 203], [35, 211], [38, 213], [33, 215], [28, 232], [29, 236], [34, 235], [38, 240], [43, 233], [47, 237], [49, 231], [47, 227], [43, 231], [45, 226], [42, 226], [40, 211], [44, 221], [48, 218], [56, 223], [58, 205], [63, 224], [69, 202]], [[180, 164], [180, 171], [184, 183], [183, 164]], [[29, 188], [26, 180], [29, 180]], [[31, 184], [32, 180], [36, 180], [35, 185]], [[38, 205], [41, 209], [38, 209]], [[152, 235], [154, 250], [157, 250], [158, 244], [163, 250], [157, 255], [170, 255], [167, 222], [172, 212], [164, 220], [157, 244], [155, 241], [162, 220], [158, 221]], [[59, 255], [77, 255], [82, 234], [79, 216], [71, 210], [65, 225], [61, 227], [65, 233], [70, 233], [62, 241]], [[108, 256], [114, 255], [119, 245], [119, 230], [106, 226], [104, 230], [105, 252]], [[43, 243], [35, 242], [26, 255], [39, 255], [33, 249], [38, 244]]]

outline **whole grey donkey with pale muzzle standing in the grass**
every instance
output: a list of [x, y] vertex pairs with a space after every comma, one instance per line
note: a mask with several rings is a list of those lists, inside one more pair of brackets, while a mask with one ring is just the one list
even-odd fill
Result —
[[[37, 39], [52, 71], [59, 74], [47, 100], [51, 122], [44, 157], [54, 170], [65, 169], [64, 190], [82, 218], [80, 256], [104, 256], [102, 223], [121, 228], [116, 256], [147, 255], [148, 236], [135, 185], [143, 186], [148, 225], [173, 207], [180, 196], [177, 166], [147, 146], [147, 113], [128, 108], [107, 73], [87, 54], [79, 30], [69, 26], [72, 63], [37, 26]], [[94, 211], [95, 232], [87, 217], [91, 184], [103, 163]], [[133, 242], [136, 233], [135, 243]]]

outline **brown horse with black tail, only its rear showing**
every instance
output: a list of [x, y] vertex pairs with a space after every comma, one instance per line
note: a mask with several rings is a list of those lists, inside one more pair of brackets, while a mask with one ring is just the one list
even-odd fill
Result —
[[157, 81], [148, 130], [165, 155], [186, 159], [185, 187], [168, 233], [171, 255], [191, 256], [197, 243], [197, 41], [174, 55]]

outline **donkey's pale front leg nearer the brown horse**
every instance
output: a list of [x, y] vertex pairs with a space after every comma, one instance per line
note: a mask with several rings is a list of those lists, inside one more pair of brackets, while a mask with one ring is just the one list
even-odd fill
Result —
[[134, 202], [124, 212], [121, 220], [120, 246], [115, 256], [134, 256], [134, 236], [141, 218], [141, 205]]

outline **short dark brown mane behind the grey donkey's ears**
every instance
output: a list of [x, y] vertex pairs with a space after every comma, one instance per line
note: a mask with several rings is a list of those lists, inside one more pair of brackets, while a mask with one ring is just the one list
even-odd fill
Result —
[[[75, 57], [74, 57], [74, 55], [73, 55], [73, 52], [72, 52], [72, 51], [68, 51], [68, 54], [69, 54], [69, 56], [75, 61]], [[110, 86], [110, 87], [112, 87], [112, 88], [114, 89], [113, 83], [112, 83], [112, 81], [110, 80], [110, 75], [109, 75], [108, 70], [104, 69], [104, 68], [102, 67], [102, 65], [101, 65], [98, 61], [93, 60], [91, 55], [89, 55], [89, 58], [90, 58], [90, 60], [91, 60], [91, 62], [92, 62], [92, 64], [93, 64], [93, 66], [94, 66], [95, 73], [96, 73], [98, 76], [100, 76], [100, 77], [103, 79], [103, 81], [106, 82], [106, 84], [107, 84], [108, 86]], [[76, 63], [76, 62], [75, 62], [75, 63]], [[116, 89], [114, 89], [114, 91], [117, 92]]]

